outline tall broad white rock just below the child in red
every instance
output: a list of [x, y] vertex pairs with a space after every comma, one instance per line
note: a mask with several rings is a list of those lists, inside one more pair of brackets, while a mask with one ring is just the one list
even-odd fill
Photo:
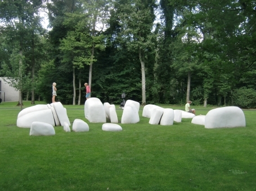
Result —
[[106, 111], [101, 100], [91, 97], [84, 104], [84, 116], [91, 123], [106, 123]]

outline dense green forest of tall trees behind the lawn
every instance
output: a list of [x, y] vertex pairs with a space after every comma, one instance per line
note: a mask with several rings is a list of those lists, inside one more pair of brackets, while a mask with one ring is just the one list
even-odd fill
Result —
[[[40, 12], [47, 12], [49, 30]], [[0, 76], [22, 100], [256, 108], [254, 0], [3, 0]]]

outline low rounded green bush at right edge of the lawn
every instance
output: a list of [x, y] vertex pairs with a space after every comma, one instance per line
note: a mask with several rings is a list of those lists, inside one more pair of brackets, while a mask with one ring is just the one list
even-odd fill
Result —
[[256, 108], [256, 91], [253, 88], [241, 87], [232, 94], [233, 104], [240, 108]]

